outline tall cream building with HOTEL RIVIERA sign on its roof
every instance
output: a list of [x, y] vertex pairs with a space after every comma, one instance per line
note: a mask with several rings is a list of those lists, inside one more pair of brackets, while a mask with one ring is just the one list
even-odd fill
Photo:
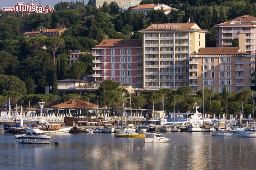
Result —
[[196, 23], [151, 24], [143, 34], [143, 87], [189, 86], [190, 55], [205, 47], [206, 30]]

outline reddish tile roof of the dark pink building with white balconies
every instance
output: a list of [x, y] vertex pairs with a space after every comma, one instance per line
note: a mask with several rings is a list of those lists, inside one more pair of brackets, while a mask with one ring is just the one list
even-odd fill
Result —
[[96, 45], [95, 48], [100, 47], [142, 47], [142, 40], [141, 39], [109, 39], [109, 40], [102, 40], [100, 44]]

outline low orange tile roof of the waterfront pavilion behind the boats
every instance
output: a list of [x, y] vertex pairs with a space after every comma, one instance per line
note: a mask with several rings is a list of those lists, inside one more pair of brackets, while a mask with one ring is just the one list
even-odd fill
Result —
[[56, 104], [52, 107], [67, 107], [67, 108], [87, 108], [87, 106], [89, 108], [97, 108], [98, 105], [97, 104], [93, 104], [93, 103], [88, 103], [86, 101], [82, 101], [79, 99], [72, 99], [70, 101], [64, 102], [64, 103], [60, 103], [60, 104]]

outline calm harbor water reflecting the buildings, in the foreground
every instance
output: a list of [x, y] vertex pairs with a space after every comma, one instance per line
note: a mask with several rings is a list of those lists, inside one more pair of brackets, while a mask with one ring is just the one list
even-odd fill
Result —
[[[2, 126], [0, 126], [2, 127]], [[0, 129], [1, 169], [256, 169], [256, 138], [162, 133], [168, 143], [114, 134], [58, 134], [60, 145], [19, 144]]]

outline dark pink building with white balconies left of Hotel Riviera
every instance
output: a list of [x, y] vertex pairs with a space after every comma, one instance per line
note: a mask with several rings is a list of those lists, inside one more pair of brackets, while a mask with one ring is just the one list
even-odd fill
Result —
[[93, 49], [96, 81], [113, 80], [142, 86], [142, 40], [102, 40]]

